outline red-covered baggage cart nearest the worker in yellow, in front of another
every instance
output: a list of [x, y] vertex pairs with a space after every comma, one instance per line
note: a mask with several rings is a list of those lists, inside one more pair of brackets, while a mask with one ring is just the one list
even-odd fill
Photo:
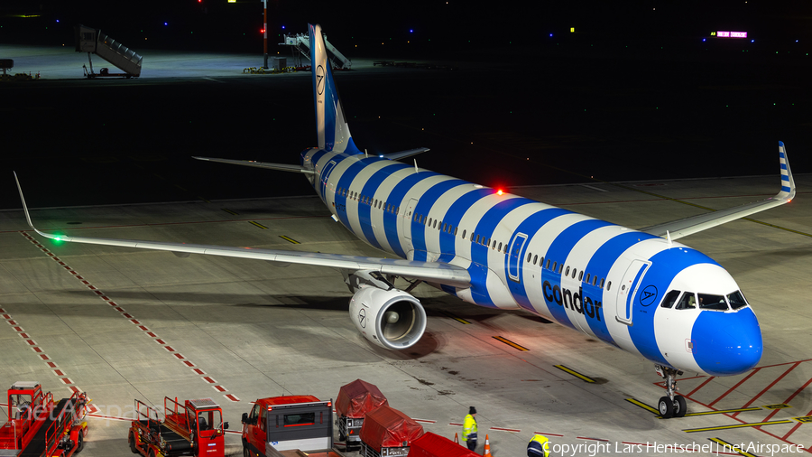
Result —
[[423, 434], [423, 426], [390, 406], [381, 406], [364, 418], [362, 457], [409, 455], [410, 443]]

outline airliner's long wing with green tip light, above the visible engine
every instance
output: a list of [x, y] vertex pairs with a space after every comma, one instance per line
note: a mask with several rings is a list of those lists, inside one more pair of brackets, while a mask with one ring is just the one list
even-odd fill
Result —
[[400, 258], [344, 256], [340, 254], [285, 251], [278, 249], [258, 249], [253, 247], [226, 247], [193, 245], [186, 243], [166, 243], [161, 241], [144, 241], [138, 239], [69, 237], [67, 235], [45, 233], [33, 226], [31, 215], [28, 212], [28, 207], [26, 206], [25, 198], [23, 197], [23, 189], [20, 187], [20, 181], [17, 180], [17, 173], [14, 173], [14, 180], [17, 181], [17, 190], [20, 191], [20, 199], [23, 201], [23, 210], [25, 211], [25, 219], [28, 221], [28, 225], [43, 237], [56, 239], [58, 241], [171, 251], [173, 254], [180, 257], [187, 257], [190, 254], [206, 254], [209, 256], [253, 258], [271, 262], [281, 262], [283, 264], [332, 266], [334, 268], [342, 268], [353, 271], [378, 271], [383, 275], [404, 276], [411, 279], [420, 279], [429, 283], [446, 284], [452, 287], [465, 288], [470, 287], [471, 285], [471, 276], [468, 274], [468, 271], [465, 268], [438, 262], [421, 262], [403, 260]]

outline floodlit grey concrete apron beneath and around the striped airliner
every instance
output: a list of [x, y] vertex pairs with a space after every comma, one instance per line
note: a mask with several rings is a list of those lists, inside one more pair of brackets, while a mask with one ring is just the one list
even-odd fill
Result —
[[[761, 362], [746, 374], [685, 373], [685, 418], [651, 411], [663, 394], [651, 362], [526, 312], [478, 308], [420, 285], [426, 334], [410, 350], [382, 350], [355, 331], [350, 294], [330, 268], [55, 243], [33, 233], [22, 210], [0, 211], [0, 386], [35, 380], [55, 397], [87, 391], [96, 406], [88, 457], [130, 455], [125, 419], [136, 398], [162, 406], [164, 396], [210, 396], [235, 432], [255, 398], [335, 398], [356, 378], [448, 438], [475, 406], [478, 452], [488, 434], [491, 452], [505, 457], [524, 455], [535, 433], [549, 436], [552, 455], [572, 455], [564, 445], [574, 455], [670, 455], [680, 446], [710, 455], [712, 439], [756, 446], [752, 455], [770, 455], [768, 444], [810, 452], [812, 175], [795, 179], [798, 197], [788, 205], [680, 239], [731, 272], [764, 339]], [[509, 191], [641, 228], [761, 200], [779, 187], [776, 166], [757, 177]], [[311, 196], [46, 210], [28, 203], [34, 223], [51, 232], [381, 256]], [[239, 451], [239, 435], [226, 438]]]

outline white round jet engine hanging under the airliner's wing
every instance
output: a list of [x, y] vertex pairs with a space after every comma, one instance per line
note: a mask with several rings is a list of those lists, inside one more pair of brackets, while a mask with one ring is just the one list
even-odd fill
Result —
[[363, 286], [350, 300], [350, 319], [364, 338], [388, 350], [411, 348], [426, 331], [426, 311], [398, 289]]

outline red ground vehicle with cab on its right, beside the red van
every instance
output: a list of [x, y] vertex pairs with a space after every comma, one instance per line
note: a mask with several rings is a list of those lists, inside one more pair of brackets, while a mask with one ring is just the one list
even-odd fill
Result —
[[135, 400], [136, 417], [130, 426], [127, 442], [130, 451], [144, 457], [224, 457], [226, 430], [223, 411], [211, 398], [186, 400], [184, 405], [163, 398], [163, 420], [158, 411], [141, 400]]

